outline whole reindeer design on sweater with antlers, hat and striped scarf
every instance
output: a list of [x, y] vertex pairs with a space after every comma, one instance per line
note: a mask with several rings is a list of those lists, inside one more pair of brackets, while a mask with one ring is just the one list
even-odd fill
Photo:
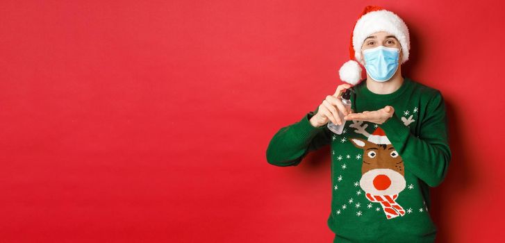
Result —
[[368, 124], [362, 125], [363, 121], [353, 121], [349, 125], [356, 128], [356, 133], [367, 137], [367, 140], [349, 139], [364, 152], [360, 186], [369, 201], [381, 204], [387, 219], [404, 216], [404, 208], [395, 201], [406, 185], [404, 161], [380, 127], [370, 134], [365, 131]]

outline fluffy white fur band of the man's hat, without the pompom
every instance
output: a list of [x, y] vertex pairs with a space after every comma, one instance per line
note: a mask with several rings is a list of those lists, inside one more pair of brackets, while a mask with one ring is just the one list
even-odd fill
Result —
[[361, 58], [361, 47], [363, 46], [363, 42], [373, 33], [380, 31], [395, 35], [402, 47], [403, 57], [401, 58], [401, 64], [406, 62], [406, 60], [408, 60], [408, 50], [411, 49], [407, 25], [398, 15], [388, 10], [368, 12], [358, 19], [352, 34], [354, 58], [364, 65]]

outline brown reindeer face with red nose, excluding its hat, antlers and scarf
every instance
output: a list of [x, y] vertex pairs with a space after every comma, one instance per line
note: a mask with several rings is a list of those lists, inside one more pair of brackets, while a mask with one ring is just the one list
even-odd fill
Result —
[[404, 190], [404, 162], [392, 144], [374, 144], [361, 138], [350, 141], [363, 149], [360, 185], [365, 192], [391, 195]]

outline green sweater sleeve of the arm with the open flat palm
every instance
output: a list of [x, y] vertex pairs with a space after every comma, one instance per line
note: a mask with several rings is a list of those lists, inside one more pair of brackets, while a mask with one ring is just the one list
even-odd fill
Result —
[[395, 114], [379, 125], [404, 160], [406, 170], [436, 187], [444, 180], [452, 153], [449, 149], [445, 102], [437, 90], [427, 103], [426, 115], [416, 137]]

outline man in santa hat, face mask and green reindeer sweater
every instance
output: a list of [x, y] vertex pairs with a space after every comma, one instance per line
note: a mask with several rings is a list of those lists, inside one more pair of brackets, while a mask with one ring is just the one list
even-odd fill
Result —
[[[340, 69], [340, 78], [350, 84], [339, 85], [314, 112], [281, 128], [268, 145], [270, 164], [290, 166], [331, 144], [328, 226], [335, 242], [433, 242], [436, 237], [429, 187], [442, 183], [452, 157], [445, 102], [439, 90], [401, 75], [409, 49], [403, 20], [367, 6], [351, 35], [356, 61]], [[367, 72], [363, 81], [358, 62]], [[350, 111], [340, 101], [348, 88], [354, 90]], [[329, 131], [329, 121], [346, 121], [342, 134]]]

